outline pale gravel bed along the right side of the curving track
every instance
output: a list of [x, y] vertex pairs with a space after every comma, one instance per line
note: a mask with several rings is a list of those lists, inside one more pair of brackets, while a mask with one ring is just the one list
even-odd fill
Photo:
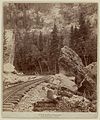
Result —
[[30, 89], [25, 96], [21, 99], [18, 105], [14, 108], [14, 112], [31, 112], [33, 110], [33, 103], [47, 99], [46, 90], [42, 89], [46, 87], [48, 83], [41, 83], [35, 88]]

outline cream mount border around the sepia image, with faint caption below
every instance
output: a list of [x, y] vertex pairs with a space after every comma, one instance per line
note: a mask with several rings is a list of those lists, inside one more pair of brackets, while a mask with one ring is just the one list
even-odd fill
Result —
[[[2, 68], [3, 68], [3, 37], [2, 37], [2, 31], [3, 31], [3, 3], [4, 2], [9, 2], [9, 3], [98, 3], [98, 40], [97, 40], [97, 112], [96, 113], [82, 113], [82, 112], [2, 112]], [[0, 50], [0, 74], [1, 74], [1, 80], [0, 80], [0, 92], [1, 92], [1, 99], [0, 99], [0, 112], [1, 112], [1, 118], [13, 118], [13, 119], [99, 119], [100, 118], [100, 114], [99, 114], [99, 110], [100, 110], [100, 73], [99, 73], [99, 69], [100, 69], [100, 64], [99, 64], [99, 59], [100, 59], [100, 55], [99, 55], [99, 50], [100, 50], [100, 33], [99, 33], [99, 29], [100, 29], [100, 5], [99, 5], [99, 0], [1, 0], [0, 1], [0, 46], [1, 46], [1, 50]]]

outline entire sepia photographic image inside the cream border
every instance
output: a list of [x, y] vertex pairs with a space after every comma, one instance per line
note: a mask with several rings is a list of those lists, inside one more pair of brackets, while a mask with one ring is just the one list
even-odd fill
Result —
[[3, 4], [4, 112], [97, 112], [97, 11]]

